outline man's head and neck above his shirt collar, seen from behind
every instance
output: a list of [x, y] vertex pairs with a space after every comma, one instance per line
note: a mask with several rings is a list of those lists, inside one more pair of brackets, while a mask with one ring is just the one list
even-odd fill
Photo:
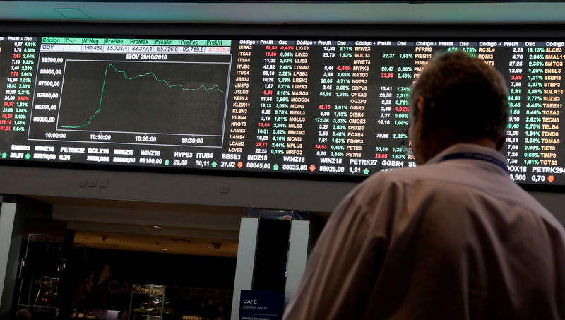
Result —
[[501, 74], [469, 54], [447, 52], [429, 61], [410, 90], [410, 140], [418, 164], [456, 143], [501, 150], [509, 121]]

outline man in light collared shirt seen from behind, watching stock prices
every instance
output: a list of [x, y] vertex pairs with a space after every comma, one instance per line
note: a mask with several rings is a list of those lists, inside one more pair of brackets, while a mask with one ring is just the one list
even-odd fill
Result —
[[416, 168], [340, 203], [284, 319], [565, 319], [565, 232], [509, 179], [500, 73], [441, 54], [410, 93]]

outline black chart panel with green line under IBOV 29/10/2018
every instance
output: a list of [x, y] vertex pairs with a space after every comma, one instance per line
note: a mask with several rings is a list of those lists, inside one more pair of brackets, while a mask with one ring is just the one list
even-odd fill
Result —
[[228, 73], [225, 63], [68, 60], [57, 129], [220, 135]]

